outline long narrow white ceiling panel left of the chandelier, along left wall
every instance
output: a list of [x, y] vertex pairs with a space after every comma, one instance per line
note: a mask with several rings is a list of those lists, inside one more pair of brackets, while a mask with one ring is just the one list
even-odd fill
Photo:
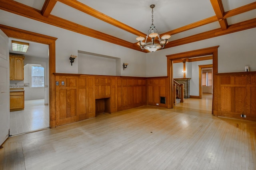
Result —
[[60, 2], [56, 3], [54, 9], [51, 12], [51, 15], [72, 21], [74, 23], [78, 23], [79, 25], [83, 25], [96, 31], [112, 35], [114, 37], [118, 37], [131, 43], [136, 42], [137, 35], [124, 31], [123, 29], [115, 27], [109, 23], [94, 18], [88, 14], [85, 14], [84, 12], [78, 11]]

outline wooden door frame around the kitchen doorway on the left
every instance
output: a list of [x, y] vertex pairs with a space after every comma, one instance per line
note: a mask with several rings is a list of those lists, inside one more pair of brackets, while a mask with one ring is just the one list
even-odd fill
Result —
[[55, 113], [55, 41], [57, 38], [48, 35], [42, 35], [9, 27], [0, 24], [0, 29], [8, 36], [17, 39], [24, 39], [36, 43], [49, 45], [49, 114], [50, 114], [50, 128], [56, 127], [56, 113]]

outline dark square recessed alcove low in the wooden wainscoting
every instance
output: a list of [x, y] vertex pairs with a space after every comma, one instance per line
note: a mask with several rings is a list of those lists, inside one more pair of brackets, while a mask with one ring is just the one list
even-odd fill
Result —
[[110, 113], [110, 98], [102, 98], [95, 100], [95, 116]]

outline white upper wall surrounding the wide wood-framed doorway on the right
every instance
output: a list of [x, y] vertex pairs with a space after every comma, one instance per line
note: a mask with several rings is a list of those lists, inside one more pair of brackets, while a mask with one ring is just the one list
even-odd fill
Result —
[[[172, 38], [171, 38], [172, 39]], [[170, 40], [171, 40], [170, 39]], [[171, 43], [171, 42], [170, 42]], [[256, 71], [256, 28], [239, 31], [146, 54], [146, 76], [167, 76], [166, 55], [220, 46], [218, 72], [244, 72], [244, 66]]]

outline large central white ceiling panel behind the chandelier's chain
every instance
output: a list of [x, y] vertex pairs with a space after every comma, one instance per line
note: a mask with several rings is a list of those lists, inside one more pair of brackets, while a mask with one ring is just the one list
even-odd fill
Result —
[[154, 25], [160, 34], [215, 15], [210, 0], [78, 1], [143, 33], [151, 25], [150, 4], [156, 5]]

